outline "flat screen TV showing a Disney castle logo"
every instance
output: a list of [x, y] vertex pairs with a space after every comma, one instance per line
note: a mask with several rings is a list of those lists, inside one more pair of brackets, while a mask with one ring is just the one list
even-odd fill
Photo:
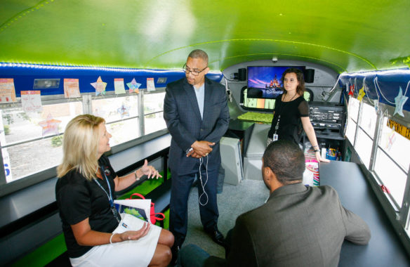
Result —
[[289, 67], [305, 72], [305, 66], [249, 66], [248, 97], [275, 99], [283, 92], [282, 73]]

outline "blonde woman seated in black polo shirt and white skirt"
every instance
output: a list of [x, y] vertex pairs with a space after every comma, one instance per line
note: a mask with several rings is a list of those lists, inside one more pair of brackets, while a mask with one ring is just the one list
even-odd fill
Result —
[[143, 175], [148, 166], [118, 177], [104, 152], [110, 150], [105, 120], [79, 115], [65, 129], [55, 198], [72, 266], [167, 266], [173, 235], [114, 208], [115, 191]]

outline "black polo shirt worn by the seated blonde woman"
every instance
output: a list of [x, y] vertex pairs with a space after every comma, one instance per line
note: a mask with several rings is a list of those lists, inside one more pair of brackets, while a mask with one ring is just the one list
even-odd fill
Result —
[[[110, 161], [105, 155], [100, 157], [98, 164], [105, 171], [105, 175], [110, 183], [112, 197], [115, 199], [114, 178], [117, 177], [117, 174], [112, 169]], [[98, 178], [96, 181], [110, 194], [107, 181], [103, 175], [102, 179]], [[60, 211], [62, 232], [64, 233], [65, 244], [67, 245], [67, 252], [70, 258], [82, 256], [92, 248], [80, 246], [77, 243], [72, 233], [71, 225], [88, 218], [91, 230], [98, 232], [112, 233], [118, 226], [118, 221], [110, 208], [110, 201], [102, 188], [95, 181], [88, 181], [75, 170], [59, 178], [55, 185], [55, 199]]]

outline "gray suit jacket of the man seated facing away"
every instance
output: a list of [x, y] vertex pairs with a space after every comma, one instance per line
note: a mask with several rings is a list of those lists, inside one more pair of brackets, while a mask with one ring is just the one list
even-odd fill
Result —
[[336, 190], [284, 185], [237, 218], [227, 261], [211, 257], [206, 266], [338, 266], [345, 239], [366, 245], [370, 230]]

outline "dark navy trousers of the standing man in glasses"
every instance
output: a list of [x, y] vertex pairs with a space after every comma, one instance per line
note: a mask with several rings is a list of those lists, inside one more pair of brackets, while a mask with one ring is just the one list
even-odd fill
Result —
[[[206, 159], [205, 159], [206, 162]], [[171, 169], [171, 203], [169, 230], [175, 237], [175, 245], [182, 245], [187, 235], [188, 223], [188, 197], [190, 189], [197, 176], [199, 195], [199, 214], [205, 230], [216, 230], [218, 222], [218, 204], [216, 203], [216, 185], [218, 181], [218, 166], [208, 166], [206, 176], [206, 164], [201, 165], [201, 179], [199, 178], [199, 164], [197, 172], [186, 175], [178, 175]], [[212, 169], [211, 169], [212, 168]], [[202, 181], [201, 181], [202, 180]], [[204, 190], [202, 189], [204, 186]]]

